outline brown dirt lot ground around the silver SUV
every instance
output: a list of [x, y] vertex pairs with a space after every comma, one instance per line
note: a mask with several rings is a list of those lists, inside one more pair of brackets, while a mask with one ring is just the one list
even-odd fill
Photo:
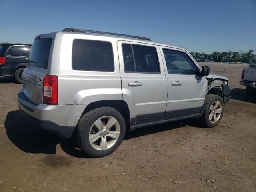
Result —
[[232, 99], [218, 126], [189, 119], [140, 128], [97, 159], [23, 118], [16, 101], [22, 85], [0, 78], [0, 192], [255, 192], [256, 100], [239, 85], [244, 66], [200, 64], [230, 78]]

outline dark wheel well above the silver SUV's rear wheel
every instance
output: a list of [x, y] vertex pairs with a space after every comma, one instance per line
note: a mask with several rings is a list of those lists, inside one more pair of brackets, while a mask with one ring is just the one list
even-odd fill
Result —
[[[130, 111], [127, 103], [123, 100], [104, 100], [104, 101], [96, 101], [88, 104], [84, 109], [83, 114], [100, 107], [111, 107], [120, 112], [122, 114], [124, 121], [126, 123], [126, 127], [130, 126]], [[83, 115], [82, 114], [82, 115]], [[128, 129], [126, 129], [128, 130]]]

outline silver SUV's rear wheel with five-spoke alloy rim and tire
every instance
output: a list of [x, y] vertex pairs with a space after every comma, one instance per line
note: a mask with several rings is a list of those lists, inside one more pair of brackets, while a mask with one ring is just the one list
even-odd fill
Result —
[[84, 114], [78, 122], [76, 140], [81, 150], [92, 157], [112, 154], [125, 135], [123, 116], [114, 108], [101, 107]]

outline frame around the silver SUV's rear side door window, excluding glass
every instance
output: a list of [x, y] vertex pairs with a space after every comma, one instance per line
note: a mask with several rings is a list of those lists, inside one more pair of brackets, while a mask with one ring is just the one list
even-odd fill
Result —
[[[124, 67], [124, 73], [135, 73], [135, 74], [161, 74], [161, 66], [160, 66], [160, 59], [159, 59], [159, 55], [158, 55], [158, 51], [157, 51], [157, 48], [156, 46], [157, 45], [152, 45], [150, 46], [151, 44], [140, 44], [140, 43], [134, 43], [134, 42], [122, 42], [121, 43], [121, 50], [122, 50], [122, 59], [123, 59], [123, 64], [124, 64], [124, 52], [123, 52], [123, 44], [128, 44], [128, 45], [137, 45], [137, 46], [145, 46], [145, 47], [152, 47], [152, 48], [155, 48], [156, 50], [156, 56], [157, 56], [157, 59], [158, 59], [158, 67], [159, 67], [159, 72], [137, 72], [137, 71], [134, 71], [134, 72], [129, 72], [129, 71], [126, 71], [125, 70], [125, 67]], [[133, 58], [134, 58], [134, 55], [133, 55]], [[135, 65], [136, 65], [136, 62], [135, 62]]]

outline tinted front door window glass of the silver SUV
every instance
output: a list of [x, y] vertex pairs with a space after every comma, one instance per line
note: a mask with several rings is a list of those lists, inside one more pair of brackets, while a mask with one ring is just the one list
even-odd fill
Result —
[[163, 49], [168, 74], [196, 74], [196, 66], [187, 54]]

